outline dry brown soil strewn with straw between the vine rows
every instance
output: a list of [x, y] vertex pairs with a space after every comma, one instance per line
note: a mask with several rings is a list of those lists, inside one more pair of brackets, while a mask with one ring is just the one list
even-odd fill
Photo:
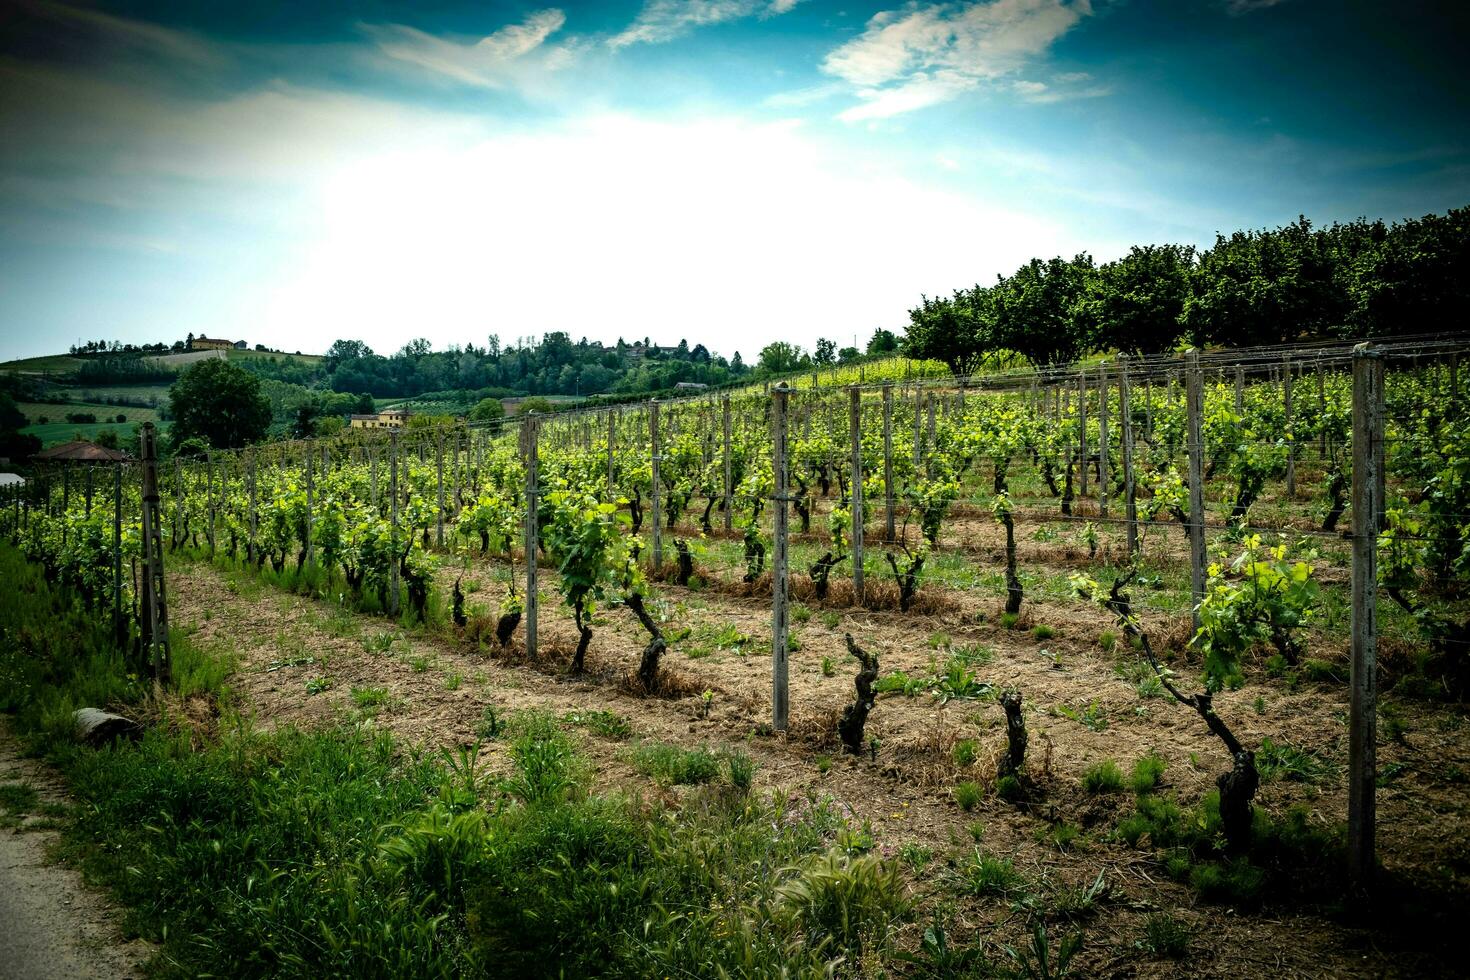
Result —
[[[994, 548], [994, 539], [976, 527], [975, 542]], [[1061, 573], [1057, 552], [1036, 551], [1035, 561], [1050, 561]], [[451, 563], [445, 563], [447, 566]], [[503, 595], [506, 570], [479, 558], [467, 567], [441, 569], [435, 588], [448, 595], [463, 576], [472, 616], [494, 614]], [[1003, 899], [957, 898], [944, 886], [945, 858], [967, 855], [972, 826], [982, 824], [982, 848], [1008, 857], [1032, 882], [1033, 890], [1054, 895], [1063, 887], [1091, 882], [1102, 871], [1108, 893], [1098, 911], [1067, 926], [1086, 937], [1079, 959], [1083, 976], [1200, 976], [1200, 977], [1382, 977], [1451, 976], [1458, 973], [1438, 949], [1449, 939], [1374, 930], [1341, 912], [1294, 908], [1267, 896], [1264, 909], [1235, 909], [1201, 902], [1170, 882], [1151, 851], [1130, 849], [1107, 839], [1116, 820], [1132, 811], [1130, 795], [1089, 796], [1082, 773], [1102, 760], [1116, 760], [1125, 771], [1133, 760], [1157, 752], [1167, 760], [1164, 792], [1180, 804], [1198, 802], [1227, 768], [1223, 751], [1202, 723], [1183, 708], [1158, 698], [1141, 699], [1135, 683], [1119, 676], [1133, 655], [1125, 644], [1104, 652], [1100, 635], [1111, 627], [1107, 617], [1080, 602], [1025, 607], [1019, 627], [1044, 623], [1054, 630], [1045, 641], [1023, 629], [1003, 629], [1000, 597], [926, 586], [939, 592], [929, 616], [900, 614], [885, 608], [841, 605], [851, 599], [845, 582], [833, 582], [831, 608], [807, 598], [792, 629], [800, 649], [791, 654], [792, 718], [786, 733], [769, 733], [770, 611], [757, 586], [710, 586], [703, 591], [660, 583], [654, 602], [663, 629], [676, 638], [664, 655], [669, 686], [682, 696], [645, 696], [629, 683], [647, 641], [631, 613], [601, 610], [594, 624], [588, 671], [567, 674], [576, 645], [570, 611], [557, 605], [556, 576], [542, 572], [539, 616], [541, 651], [525, 661], [520, 633], [513, 649], [500, 649], [492, 636], [469, 639], [463, 630], [403, 630], [382, 619], [332, 608], [328, 602], [285, 595], [204, 564], [175, 563], [171, 574], [171, 617], [194, 630], [201, 642], [218, 642], [240, 654], [234, 691], [257, 724], [334, 724], [357, 720], [384, 726], [425, 746], [475, 746], [476, 727], [487, 710], [501, 716], [517, 710], [556, 714], [610, 710], [626, 716], [637, 739], [684, 745], [739, 743], [760, 764], [757, 788], [764, 792], [822, 793], [851, 813], [854, 826], [867, 823], [883, 852], [904, 843], [933, 848], [936, 860], [913, 880], [920, 893], [935, 893], [957, 904], [957, 940], [978, 936], [1025, 943], [1023, 917]], [[797, 598], [808, 594], [794, 582]], [[832, 619], [835, 614], [835, 619]], [[826, 624], [826, 621], [833, 624]], [[1183, 673], [1188, 658], [1179, 652], [1188, 635], [1179, 617], [1150, 617], [1161, 645], [1175, 651]], [[720, 649], [711, 636], [729, 627], [748, 642]], [[691, 630], [684, 635], [684, 630]], [[472, 621], [472, 632], [475, 623]], [[953, 786], [975, 780], [994, 786], [995, 758], [1004, 746], [1004, 720], [997, 704], [985, 699], [941, 704], [928, 693], [882, 695], [869, 720], [869, 735], [879, 741], [876, 758], [839, 752], [835, 723], [853, 699], [854, 661], [844, 633], [878, 652], [882, 671], [904, 670], [928, 676], [942, 664], [947, 649], [980, 645], [991, 658], [976, 669], [979, 679], [1016, 688], [1025, 696], [1032, 736], [1029, 768], [1038, 796], [1025, 807], [1003, 802], [992, 793], [961, 811]], [[944, 638], [935, 636], [944, 633]], [[388, 644], [384, 638], [391, 638]], [[942, 645], [942, 644], [941, 644]], [[1329, 644], [1330, 645], [1330, 644]], [[387, 646], [387, 648], [385, 648]], [[1341, 651], [1313, 649], [1313, 655], [1339, 657]], [[309, 663], [301, 663], [310, 658]], [[831, 658], [835, 676], [823, 673]], [[1257, 805], [1280, 814], [1304, 804], [1311, 820], [1326, 826], [1344, 820], [1347, 788], [1347, 689], [1341, 683], [1302, 680], [1295, 691], [1267, 680], [1261, 670], [1251, 682], [1217, 699], [1217, 710], [1248, 745], [1261, 739], [1289, 742], [1314, 752], [1329, 767], [1316, 783], [1267, 782]], [[309, 680], [328, 682], [309, 693]], [[320, 685], [316, 685], [320, 686]], [[363, 708], [354, 689], [387, 691], [387, 704]], [[707, 717], [700, 692], [713, 692]], [[1094, 708], [1095, 705], [1095, 708]], [[1058, 708], [1094, 708], [1102, 724], [1089, 727]], [[1470, 768], [1470, 727], [1463, 707], [1395, 702], [1404, 726], [1396, 741], [1379, 745], [1379, 855], [1388, 876], [1413, 880], [1463, 896], [1470, 882], [1470, 808], [1464, 773]], [[1382, 732], [1382, 727], [1380, 727]], [[960, 739], [979, 742], [978, 760], [956, 764], [951, 751]], [[629, 764], [628, 743], [594, 735], [582, 738], [603, 789], [656, 790]], [[506, 767], [504, 746], [479, 743], [491, 771]], [[828, 765], [828, 771], [822, 771]], [[666, 793], [676, 802], [676, 793]], [[1079, 826], [1079, 846], [1058, 851], [1039, 835], [1057, 820]], [[1160, 961], [1138, 948], [1144, 918], [1170, 911], [1192, 932], [1189, 955]], [[922, 926], [910, 926], [919, 930]], [[914, 945], [917, 933], [907, 937]]]

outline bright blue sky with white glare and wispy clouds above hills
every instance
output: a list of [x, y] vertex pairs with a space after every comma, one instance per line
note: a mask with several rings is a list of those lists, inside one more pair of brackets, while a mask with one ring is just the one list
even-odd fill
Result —
[[0, 356], [864, 341], [1032, 256], [1470, 204], [1463, 3], [0, 13]]

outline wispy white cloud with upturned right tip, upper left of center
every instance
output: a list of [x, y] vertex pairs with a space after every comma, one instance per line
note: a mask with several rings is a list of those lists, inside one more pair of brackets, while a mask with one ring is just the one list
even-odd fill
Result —
[[435, 37], [403, 24], [363, 25], [363, 31], [391, 59], [467, 85], [500, 88], [514, 62], [545, 44], [564, 24], [566, 15], [553, 7], [470, 41]]

